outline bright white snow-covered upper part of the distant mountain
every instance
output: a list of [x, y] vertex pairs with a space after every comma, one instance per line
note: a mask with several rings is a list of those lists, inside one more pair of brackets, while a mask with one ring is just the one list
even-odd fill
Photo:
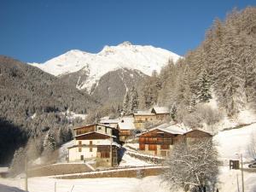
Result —
[[91, 92], [91, 88], [95, 88], [106, 73], [127, 68], [151, 75], [154, 70], [160, 72], [168, 60], [176, 62], [179, 58], [179, 55], [166, 49], [124, 42], [117, 46], [105, 46], [97, 54], [73, 49], [42, 64], [30, 64], [55, 76], [79, 72], [76, 87]]

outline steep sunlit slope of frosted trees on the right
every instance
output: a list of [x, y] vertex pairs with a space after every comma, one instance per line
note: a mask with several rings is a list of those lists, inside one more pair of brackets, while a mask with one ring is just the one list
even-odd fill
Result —
[[[256, 8], [234, 9], [226, 19], [215, 20], [200, 46], [160, 74], [149, 78], [141, 97], [153, 103], [177, 106], [176, 120], [201, 121], [201, 103], [214, 96], [218, 109], [236, 116], [256, 103]], [[157, 86], [154, 84], [158, 84]], [[142, 107], [148, 107], [144, 103]], [[208, 110], [209, 111], [209, 110]], [[201, 119], [200, 119], [201, 118]]]

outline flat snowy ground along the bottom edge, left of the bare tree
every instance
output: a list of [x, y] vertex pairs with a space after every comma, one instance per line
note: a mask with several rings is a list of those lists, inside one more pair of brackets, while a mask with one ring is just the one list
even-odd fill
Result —
[[[24, 189], [24, 179], [3, 179], [0, 183]], [[168, 188], [161, 183], [160, 177], [139, 178], [86, 178], [55, 179], [49, 177], [32, 177], [28, 179], [29, 192], [167, 192]]]

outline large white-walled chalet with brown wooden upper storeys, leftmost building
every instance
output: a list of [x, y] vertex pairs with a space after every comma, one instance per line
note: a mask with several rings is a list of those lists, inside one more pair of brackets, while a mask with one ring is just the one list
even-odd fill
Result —
[[74, 145], [68, 148], [69, 161], [96, 160], [96, 166], [117, 166], [119, 130], [95, 124], [76, 127]]

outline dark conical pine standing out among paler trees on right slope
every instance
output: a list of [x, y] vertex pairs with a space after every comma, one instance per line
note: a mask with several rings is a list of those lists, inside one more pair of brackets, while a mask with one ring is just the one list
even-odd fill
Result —
[[199, 80], [198, 80], [198, 100], [199, 102], [209, 102], [209, 100], [212, 98], [211, 96], [211, 83], [210, 83], [210, 78], [207, 74], [207, 71], [203, 69], [201, 71]]

